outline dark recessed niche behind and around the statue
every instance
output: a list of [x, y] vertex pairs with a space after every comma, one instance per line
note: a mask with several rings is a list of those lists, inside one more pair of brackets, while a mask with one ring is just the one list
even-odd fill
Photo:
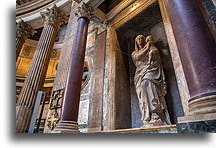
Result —
[[167, 84], [167, 94], [165, 98], [171, 123], [175, 124], [177, 122], [177, 117], [183, 116], [184, 113], [158, 3], [155, 2], [144, 9], [141, 13], [117, 28], [116, 32], [127, 71], [128, 81], [130, 83], [132, 128], [142, 126], [139, 101], [133, 80], [136, 67], [131, 59], [131, 53], [135, 49], [135, 38], [139, 34], [153, 36], [154, 43], [160, 51]]

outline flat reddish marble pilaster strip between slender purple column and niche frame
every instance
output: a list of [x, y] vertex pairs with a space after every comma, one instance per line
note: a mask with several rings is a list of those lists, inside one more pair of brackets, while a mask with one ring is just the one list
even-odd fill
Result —
[[101, 130], [102, 128], [102, 104], [104, 85], [104, 56], [106, 51], [106, 31], [97, 35], [97, 44], [94, 56], [94, 80], [92, 89], [92, 99], [89, 107], [89, 130]]

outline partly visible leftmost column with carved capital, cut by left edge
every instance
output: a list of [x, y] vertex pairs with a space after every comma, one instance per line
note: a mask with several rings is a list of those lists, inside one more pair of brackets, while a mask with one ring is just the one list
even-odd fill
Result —
[[33, 36], [35, 32], [36, 31], [34, 31], [32, 27], [25, 23], [23, 20], [19, 21], [16, 24], [16, 60], [19, 57], [25, 40], [29, 36]]

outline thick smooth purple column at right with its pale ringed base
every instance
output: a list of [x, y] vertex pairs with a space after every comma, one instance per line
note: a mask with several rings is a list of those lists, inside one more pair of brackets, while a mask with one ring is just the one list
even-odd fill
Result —
[[165, 0], [190, 99], [189, 114], [216, 113], [216, 43], [195, 0]]

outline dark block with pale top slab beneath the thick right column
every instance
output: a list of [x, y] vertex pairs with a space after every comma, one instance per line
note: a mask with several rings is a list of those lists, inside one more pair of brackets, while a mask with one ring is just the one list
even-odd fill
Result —
[[216, 133], [216, 113], [179, 117], [178, 133]]

